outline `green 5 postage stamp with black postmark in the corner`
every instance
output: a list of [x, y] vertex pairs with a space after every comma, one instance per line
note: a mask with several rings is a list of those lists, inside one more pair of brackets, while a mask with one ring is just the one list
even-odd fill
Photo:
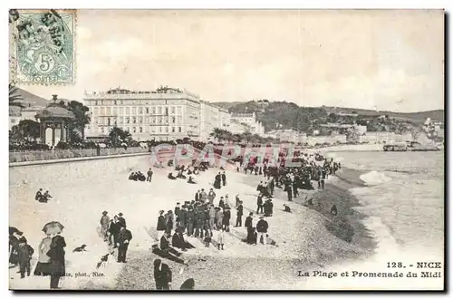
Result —
[[14, 82], [75, 83], [75, 10], [12, 10]]

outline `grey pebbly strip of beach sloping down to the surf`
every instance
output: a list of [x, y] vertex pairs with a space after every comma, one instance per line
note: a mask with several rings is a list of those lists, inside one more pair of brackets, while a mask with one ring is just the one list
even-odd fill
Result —
[[[293, 202], [295, 207], [292, 207], [298, 218], [292, 231], [293, 238], [298, 241], [295, 246], [297, 248], [294, 248], [296, 256], [272, 255], [274, 246], [244, 247], [244, 250], [250, 248], [250, 251], [258, 249], [266, 252], [259, 253], [255, 258], [247, 254], [244, 256], [225, 256], [223, 252], [212, 254], [204, 252], [204, 248], [200, 248], [198, 252], [196, 248], [195, 253], [183, 255], [183, 258], [188, 260], [188, 266], [163, 259], [172, 269], [173, 289], [178, 289], [186, 279], [194, 278], [196, 289], [199, 290], [237, 290], [244, 289], [246, 285], [254, 285], [253, 290], [304, 290], [307, 278], [298, 276], [298, 271], [329, 271], [330, 266], [344, 261], [368, 258], [373, 254], [376, 242], [371, 237], [370, 230], [361, 223], [365, 216], [354, 210], [353, 207], [360, 204], [349, 191], [349, 188], [363, 185], [359, 178], [360, 174], [360, 170], [343, 168], [326, 182], [325, 189], [300, 190], [300, 197], [295, 198]], [[255, 180], [261, 177], [248, 175], [247, 178], [247, 185], [252, 187]], [[285, 198], [283, 189], [276, 188], [275, 191], [275, 210], [278, 210], [287, 200], [277, 199]], [[313, 205], [305, 205], [304, 198], [312, 198]], [[333, 204], [338, 207], [337, 216], [330, 214], [330, 207]], [[297, 213], [299, 210], [304, 213]], [[270, 218], [268, 220], [271, 220]], [[305, 231], [304, 234], [302, 231]], [[303, 237], [304, 235], [306, 237]], [[190, 238], [189, 241], [201, 245], [195, 238]], [[120, 269], [119, 275], [115, 278], [114, 289], [154, 289], [152, 263], [159, 256], [152, 254], [150, 250], [130, 251], [128, 256], [128, 263]], [[111, 289], [111, 285], [89, 284], [81, 286], [81, 289], [107, 290]]]

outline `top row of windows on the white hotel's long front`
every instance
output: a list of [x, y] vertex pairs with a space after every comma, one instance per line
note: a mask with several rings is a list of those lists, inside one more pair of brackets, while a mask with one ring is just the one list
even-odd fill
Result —
[[156, 107], [94, 107], [93, 115], [109, 116], [109, 115], [129, 115], [129, 114], [182, 114], [182, 106], [156, 106]]

